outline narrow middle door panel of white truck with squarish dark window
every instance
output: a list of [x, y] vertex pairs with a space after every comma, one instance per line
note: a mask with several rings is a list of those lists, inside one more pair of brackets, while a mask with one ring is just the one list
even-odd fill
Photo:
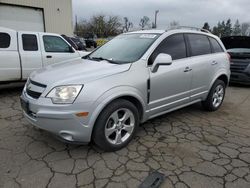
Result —
[[42, 54], [38, 33], [18, 32], [19, 52], [22, 62], [22, 79], [42, 68]]

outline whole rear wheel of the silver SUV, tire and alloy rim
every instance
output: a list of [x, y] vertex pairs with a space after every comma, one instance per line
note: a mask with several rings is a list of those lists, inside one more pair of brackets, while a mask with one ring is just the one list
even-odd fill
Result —
[[205, 110], [213, 112], [220, 108], [224, 101], [226, 85], [222, 80], [216, 80], [202, 106]]

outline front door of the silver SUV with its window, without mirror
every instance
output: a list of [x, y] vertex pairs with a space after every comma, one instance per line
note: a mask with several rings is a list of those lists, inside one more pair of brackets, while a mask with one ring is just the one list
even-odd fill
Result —
[[149, 58], [149, 63], [153, 64], [160, 53], [171, 55], [173, 63], [160, 66], [155, 73], [149, 68], [150, 116], [187, 104], [190, 101], [192, 71], [189, 68], [190, 61], [187, 59], [184, 35], [174, 34], [163, 40]]

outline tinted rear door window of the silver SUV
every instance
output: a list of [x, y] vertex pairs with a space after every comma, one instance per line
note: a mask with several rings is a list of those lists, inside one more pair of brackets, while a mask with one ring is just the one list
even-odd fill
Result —
[[211, 47], [207, 36], [198, 34], [188, 34], [192, 56], [205, 55], [211, 53]]

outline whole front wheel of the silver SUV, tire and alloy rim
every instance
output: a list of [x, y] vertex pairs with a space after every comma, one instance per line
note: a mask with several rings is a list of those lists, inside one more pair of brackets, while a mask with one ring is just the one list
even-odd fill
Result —
[[117, 151], [128, 145], [139, 125], [139, 113], [135, 105], [117, 99], [100, 113], [93, 130], [92, 140], [104, 151]]

